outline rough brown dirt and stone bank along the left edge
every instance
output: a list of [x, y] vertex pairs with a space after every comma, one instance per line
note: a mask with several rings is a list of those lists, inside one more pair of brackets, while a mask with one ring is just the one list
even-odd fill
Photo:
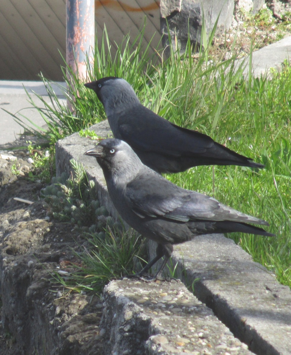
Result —
[[[33, 328], [45, 328], [45, 324], [43, 321], [36, 323], [37, 317], [31, 316], [31, 307], [26, 304], [30, 298], [35, 304], [34, 308], [39, 305], [40, 312], [44, 312], [52, 324], [53, 330], [50, 332], [60, 329], [64, 345], [58, 354], [66, 354], [65, 347], [70, 347], [72, 343], [75, 343], [76, 349], [79, 346], [80, 351], [84, 351], [81, 346], [84, 339], [88, 338], [94, 340], [94, 344], [90, 343], [90, 349], [98, 349], [97, 353], [102, 354], [98, 339], [102, 314], [99, 297], [70, 293], [61, 285], [50, 282], [50, 273], [65, 271], [66, 264], [74, 258], [72, 249], [78, 251], [85, 241], [74, 225], [48, 218], [40, 198], [44, 185], [39, 181], [28, 180], [28, 172], [33, 169], [32, 164], [27, 162], [28, 155], [23, 151], [0, 151], [17, 157], [16, 161], [0, 159], [0, 267], [1, 273], [5, 274], [1, 280], [0, 355], [39, 353], [37, 349], [29, 348], [29, 342], [35, 342], [40, 336]], [[12, 173], [14, 164], [20, 171], [19, 175]], [[15, 197], [33, 203], [16, 201]], [[29, 294], [31, 289], [32, 296]], [[11, 312], [11, 304], [16, 305], [17, 311]], [[19, 324], [23, 322], [21, 317], [26, 316], [35, 319], [25, 321], [24, 326], [20, 327]], [[88, 324], [91, 325], [88, 327]], [[15, 334], [19, 334], [19, 339]], [[48, 334], [43, 336], [49, 343]], [[22, 344], [20, 339], [25, 338], [29, 338], [29, 341]], [[52, 347], [56, 338], [52, 337], [52, 344], [47, 346]], [[23, 352], [23, 349], [26, 350]], [[31, 350], [27, 352], [27, 349]]]

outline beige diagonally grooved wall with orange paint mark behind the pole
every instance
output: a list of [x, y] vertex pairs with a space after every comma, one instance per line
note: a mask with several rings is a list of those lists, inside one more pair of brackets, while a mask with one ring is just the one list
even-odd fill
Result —
[[[145, 16], [144, 46], [160, 31], [159, 1], [95, 1], [97, 35], [102, 34], [105, 23], [113, 48], [128, 32], [134, 39]], [[156, 34], [152, 49], [159, 40]], [[0, 0], [0, 79], [37, 80], [42, 72], [51, 80], [62, 80], [65, 48], [65, 0]]]

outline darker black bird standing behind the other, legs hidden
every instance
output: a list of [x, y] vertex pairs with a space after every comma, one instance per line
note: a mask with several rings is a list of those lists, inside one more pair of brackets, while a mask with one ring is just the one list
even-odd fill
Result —
[[140, 103], [123, 78], [105, 77], [84, 84], [97, 94], [114, 138], [128, 143], [140, 160], [158, 173], [178, 173], [198, 165], [263, 168], [198, 131], [185, 129]]

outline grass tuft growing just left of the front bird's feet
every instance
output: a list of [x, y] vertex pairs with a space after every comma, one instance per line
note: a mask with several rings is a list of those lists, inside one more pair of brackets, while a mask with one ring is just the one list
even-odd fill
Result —
[[86, 234], [89, 249], [75, 253], [79, 263], [64, 277], [55, 272], [53, 279], [68, 290], [100, 294], [110, 280], [120, 279], [139, 271], [145, 262], [144, 240], [135, 231], [114, 230], [106, 227], [104, 237], [97, 233]]

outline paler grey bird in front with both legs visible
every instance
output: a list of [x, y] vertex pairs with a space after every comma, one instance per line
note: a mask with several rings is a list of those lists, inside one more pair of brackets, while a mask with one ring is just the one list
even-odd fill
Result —
[[142, 236], [157, 242], [156, 256], [137, 277], [142, 277], [164, 256], [153, 277], [157, 279], [172, 255], [173, 245], [197, 235], [242, 232], [274, 236], [249, 224], [268, 226], [265, 220], [173, 184], [143, 164], [122, 140], [101, 140], [84, 154], [95, 157], [101, 166], [109, 197], [123, 220]]

